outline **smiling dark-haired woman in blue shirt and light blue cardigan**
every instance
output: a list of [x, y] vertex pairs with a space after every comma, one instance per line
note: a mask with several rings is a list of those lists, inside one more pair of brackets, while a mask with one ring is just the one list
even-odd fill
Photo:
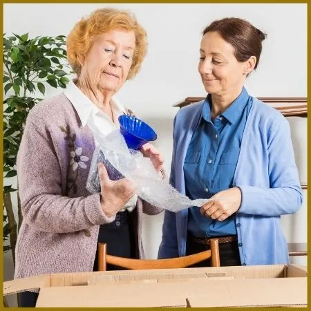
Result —
[[302, 202], [290, 126], [243, 86], [265, 37], [238, 18], [203, 31], [198, 71], [208, 95], [176, 115], [170, 182], [191, 199], [210, 200], [165, 211], [159, 258], [200, 252], [218, 238], [220, 265], [289, 261], [280, 217]]

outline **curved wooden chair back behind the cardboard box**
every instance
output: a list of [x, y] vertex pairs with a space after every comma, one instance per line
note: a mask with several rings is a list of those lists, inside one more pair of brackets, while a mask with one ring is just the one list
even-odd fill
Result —
[[211, 258], [212, 267], [220, 267], [218, 240], [211, 238], [211, 249], [198, 254], [169, 259], [131, 259], [106, 254], [106, 244], [98, 243], [98, 271], [106, 271], [106, 264], [117, 265], [129, 270], [172, 269], [189, 267]]

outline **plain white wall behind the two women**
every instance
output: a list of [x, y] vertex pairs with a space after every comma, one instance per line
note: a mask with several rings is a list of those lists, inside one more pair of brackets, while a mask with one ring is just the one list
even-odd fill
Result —
[[[155, 144], [167, 159], [167, 171], [173, 116], [178, 110], [172, 105], [188, 96], [205, 95], [197, 71], [198, 50], [203, 28], [214, 19], [241, 17], [267, 32], [261, 62], [246, 84], [250, 94], [307, 97], [306, 4], [3, 4], [3, 32], [29, 32], [30, 37], [68, 35], [78, 19], [103, 6], [131, 10], [149, 35], [149, 53], [141, 72], [117, 97], [156, 129]], [[57, 92], [48, 88], [47, 95]], [[306, 120], [291, 119], [296, 161], [305, 182]], [[283, 217], [282, 225], [288, 242], [306, 242], [306, 202], [297, 214]], [[162, 215], [144, 218], [149, 258], [156, 257], [161, 226]], [[294, 262], [306, 265], [303, 257]]]

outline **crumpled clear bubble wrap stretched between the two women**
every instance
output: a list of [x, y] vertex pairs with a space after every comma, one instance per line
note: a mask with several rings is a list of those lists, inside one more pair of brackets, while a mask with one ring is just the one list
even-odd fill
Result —
[[109, 135], [95, 133], [99, 147], [93, 154], [91, 169], [86, 182], [86, 189], [92, 194], [100, 192], [100, 178], [97, 164], [102, 162], [111, 180], [129, 178], [135, 183], [136, 194], [156, 207], [169, 211], [180, 211], [191, 206], [202, 206], [208, 199], [190, 200], [162, 180], [149, 158], [142, 156], [140, 151], [134, 151], [126, 146], [119, 130]]

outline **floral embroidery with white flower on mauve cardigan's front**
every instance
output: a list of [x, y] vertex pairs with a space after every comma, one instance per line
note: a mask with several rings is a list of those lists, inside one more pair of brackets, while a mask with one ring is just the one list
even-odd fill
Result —
[[88, 162], [88, 157], [82, 156], [82, 147], [75, 147], [75, 133], [70, 133], [70, 127], [67, 125], [66, 129], [63, 126], [59, 126], [59, 129], [66, 134], [64, 140], [68, 142], [68, 148], [70, 153], [70, 167], [72, 170], [68, 171], [67, 185], [66, 185], [66, 194], [69, 194], [71, 190], [73, 193], [77, 193], [77, 176], [79, 173], [79, 168], [86, 169], [86, 164]]

